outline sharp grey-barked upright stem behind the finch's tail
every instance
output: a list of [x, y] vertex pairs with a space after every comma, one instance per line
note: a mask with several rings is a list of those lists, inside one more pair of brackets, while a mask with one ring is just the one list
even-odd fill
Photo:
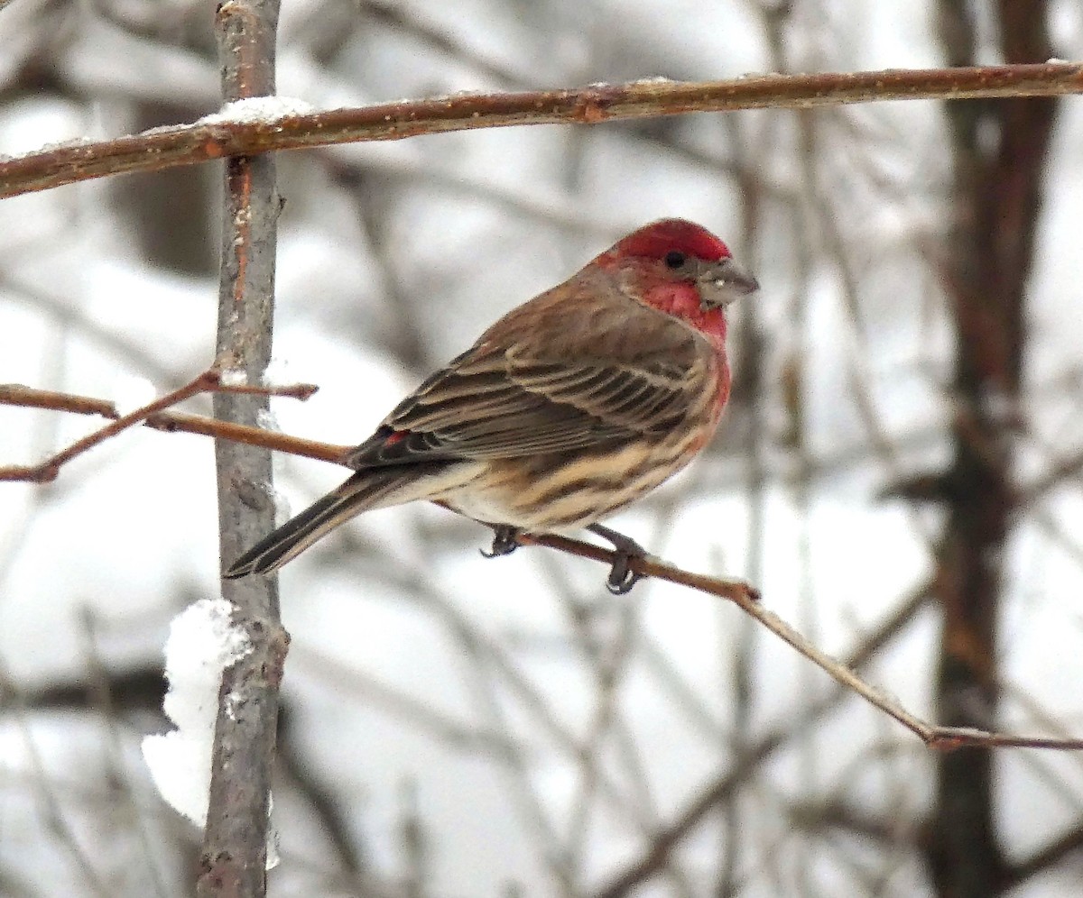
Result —
[[[224, 0], [216, 32], [225, 101], [274, 92], [277, 0]], [[279, 212], [273, 156], [226, 161], [217, 364], [259, 383], [271, 358], [275, 229]], [[214, 415], [253, 425], [263, 396], [214, 397]], [[274, 526], [271, 454], [218, 440], [216, 464], [223, 559]], [[222, 677], [214, 727], [210, 805], [204, 836], [200, 896], [262, 896], [278, 683], [288, 636], [278, 616], [277, 581], [226, 580], [222, 594], [252, 651]]]

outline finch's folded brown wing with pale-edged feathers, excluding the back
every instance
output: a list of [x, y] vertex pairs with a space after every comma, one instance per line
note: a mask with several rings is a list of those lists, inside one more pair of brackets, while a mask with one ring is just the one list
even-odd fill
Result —
[[361, 468], [514, 458], [662, 436], [702, 404], [701, 366], [708, 361], [694, 342], [690, 332], [676, 341], [670, 334], [664, 352], [582, 351], [570, 362], [532, 352], [534, 340], [499, 351], [483, 338], [344, 461]]

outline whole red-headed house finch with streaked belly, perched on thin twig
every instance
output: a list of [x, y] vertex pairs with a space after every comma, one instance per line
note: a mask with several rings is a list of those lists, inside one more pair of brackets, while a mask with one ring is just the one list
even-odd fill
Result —
[[608, 585], [631, 589], [643, 550], [598, 521], [680, 471], [729, 397], [726, 315], [758, 289], [691, 222], [649, 224], [504, 316], [432, 374], [343, 462], [338, 489], [237, 558], [272, 571], [354, 515], [425, 499], [495, 530], [587, 528], [613, 543]]

